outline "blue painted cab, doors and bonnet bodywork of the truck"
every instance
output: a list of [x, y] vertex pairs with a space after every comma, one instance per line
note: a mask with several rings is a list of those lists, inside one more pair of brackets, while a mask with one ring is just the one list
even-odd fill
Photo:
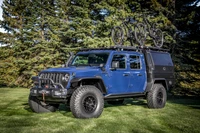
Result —
[[[103, 71], [100, 65], [85, 65], [88, 59], [95, 57], [95, 55], [101, 54], [108, 55], [107, 60], [104, 63], [105, 70]], [[121, 55], [125, 68], [112, 69], [113, 58]], [[130, 57], [138, 58], [137, 62], [132, 60]], [[105, 56], [106, 57], [106, 56]], [[84, 59], [85, 58], [85, 59]], [[84, 60], [83, 60], [84, 59]], [[83, 62], [84, 65], [77, 65], [77, 62]], [[94, 60], [93, 60], [94, 61]], [[138, 69], [131, 69], [131, 63], [139, 63], [140, 67]], [[74, 63], [74, 65], [73, 65]], [[70, 75], [69, 82], [65, 88], [70, 89], [71, 81], [74, 78], [87, 78], [87, 77], [100, 77], [106, 87], [107, 94], [127, 94], [127, 93], [143, 93], [147, 85], [147, 74], [146, 74], [146, 64], [144, 55], [141, 52], [134, 51], [116, 51], [116, 50], [91, 50], [78, 52], [76, 57], [72, 60], [72, 64], [67, 68], [50, 68], [43, 70], [41, 73], [68, 73]]]

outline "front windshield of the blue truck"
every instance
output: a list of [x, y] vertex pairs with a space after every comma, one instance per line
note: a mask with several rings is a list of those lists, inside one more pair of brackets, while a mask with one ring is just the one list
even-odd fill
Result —
[[74, 57], [73, 66], [99, 66], [106, 64], [109, 53], [86, 53], [78, 54]]

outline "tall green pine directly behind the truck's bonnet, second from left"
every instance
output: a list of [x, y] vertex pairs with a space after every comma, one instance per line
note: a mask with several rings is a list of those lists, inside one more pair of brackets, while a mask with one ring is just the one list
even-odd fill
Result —
[[[54, 0], [32, 1], [27, 6], [27, 22], [23, 35], [27, 39], [18, 49], [17, 64], [21, 68], [18, 84], [28, 86], [32, 75], [39, 71], [61, 65], [63, 53], [60, 46], [58, 26], [60, 26], [58, 3]], [[24, 80], [28, 82], [23, 82]]]

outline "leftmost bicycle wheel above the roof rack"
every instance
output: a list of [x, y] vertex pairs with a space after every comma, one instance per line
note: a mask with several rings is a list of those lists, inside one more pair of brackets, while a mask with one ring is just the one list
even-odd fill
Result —
[[115, 45], [122, 45], [124, 39], [124, 32], [120, 26], [115, 26], [112, 29], [111, 36]]

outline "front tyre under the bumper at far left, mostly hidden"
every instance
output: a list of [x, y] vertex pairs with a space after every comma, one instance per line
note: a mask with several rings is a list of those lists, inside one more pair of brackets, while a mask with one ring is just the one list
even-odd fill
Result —
[[59, 107], [59, 104], [46, 104], [31, 95], [29, 95], [28, 103], [31, 110], [36, 113], [55, 112]]

